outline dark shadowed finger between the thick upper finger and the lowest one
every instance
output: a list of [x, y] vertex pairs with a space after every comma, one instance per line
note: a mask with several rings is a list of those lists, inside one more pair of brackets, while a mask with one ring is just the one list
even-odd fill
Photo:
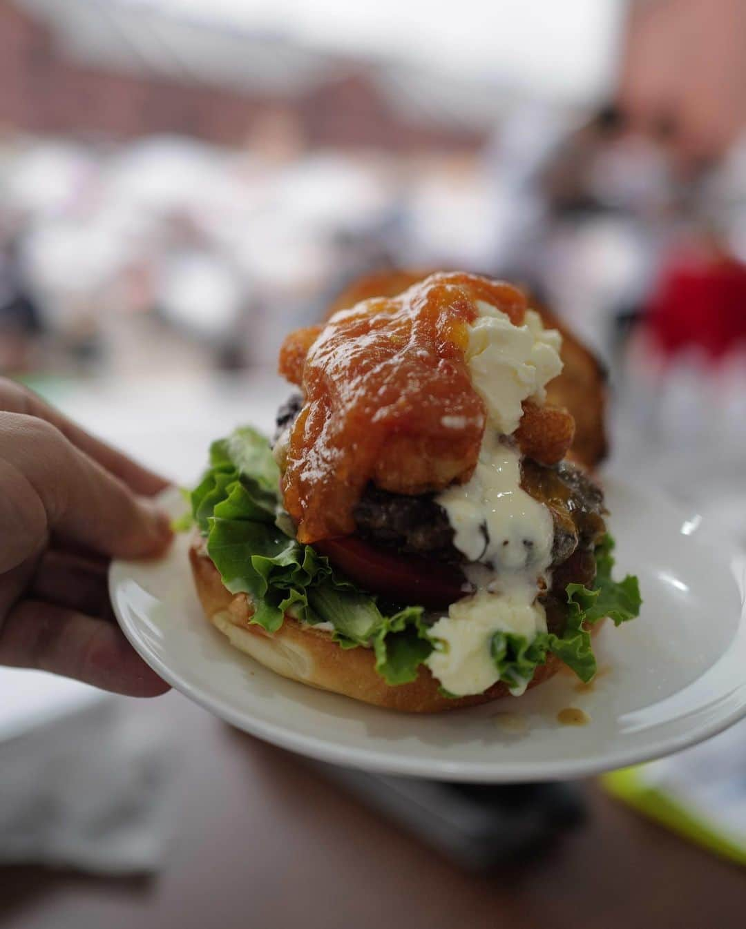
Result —
[[105, 562], [47, 551], [39, 561], [28, 594], [96, 619], [113, 620]]

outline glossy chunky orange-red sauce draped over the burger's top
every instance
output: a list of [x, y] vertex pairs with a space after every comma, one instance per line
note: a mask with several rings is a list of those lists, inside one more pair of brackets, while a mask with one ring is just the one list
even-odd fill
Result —
[[526, 297], [510, 284], [433, 274], [288, 335], [280, 373], [302, 387], [305, 402], [283, 493], [300, 542], [353, 532], [369, 480], [416, 494], [471, 477], [486, 423], [464, 359], [477, 300], [524, 321]]

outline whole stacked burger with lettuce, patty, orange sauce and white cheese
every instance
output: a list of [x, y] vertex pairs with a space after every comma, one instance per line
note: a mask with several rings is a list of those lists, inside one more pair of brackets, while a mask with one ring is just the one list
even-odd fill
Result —
[[213, 443], [192, 493], [206, 617], [277, 674], [405, 712], [563, 664], [590, 681], [593, 632], [641, 600], [548, 401], [562, 336], [503, 281], [391, 282], [287, 336], [272, 439]]

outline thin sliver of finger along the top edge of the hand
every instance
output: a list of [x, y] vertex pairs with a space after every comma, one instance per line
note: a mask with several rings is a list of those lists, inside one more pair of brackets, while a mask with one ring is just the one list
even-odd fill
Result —
[[115, 477], [123, 480], [127, 487], [135, 491], [135, 493], [142, 493], [145, 496], [152, 497], [153, 494], [163, 491], [171, 483], [166, 478], [162, 478], [141, 464], [132, 461], [123, 452], [117, 451], [111, 445], [107, 445], [106, 442], [102, 442], [100, 438], [91, 436], [85, 429], [73, 423], [61, 412], [49, 406], [40, 397], [37, 397], [33, 391], [20, 384], [2, 382], [0, 405], [7, 412], [19, 412], [27, 416], [36, 416], [56, 426], [62, 435], [69, 439], [76, 448], [85, 451], [95, 462], [98, 462]]

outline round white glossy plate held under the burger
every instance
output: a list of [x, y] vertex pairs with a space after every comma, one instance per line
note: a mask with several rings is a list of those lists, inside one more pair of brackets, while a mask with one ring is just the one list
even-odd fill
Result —
[[[558, 674], [524, 697], [433, 716], [392, 713], [288, 681], [206, 622], [180, 536], [158, 563], [114, 562], [113, 606], [132, 645], [207, 710], [286, 749], [389, 774], [482, 782], [579, 778], [692, 745], [746, 714], [746, 562], [699, 517], [606, 487], [619, 576], [641, 616], [595, 637], [601, 673], [583, 690]], [[175, 514], [183, 504], [172, 493]], [[584, 726], [557, 713], [578, 707]]]

